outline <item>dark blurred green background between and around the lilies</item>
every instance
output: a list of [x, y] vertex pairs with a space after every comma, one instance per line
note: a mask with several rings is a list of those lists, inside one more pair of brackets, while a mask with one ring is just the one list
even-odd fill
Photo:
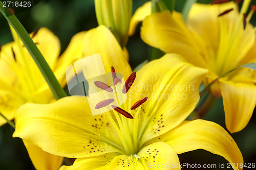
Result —
[[[145, 2], [147, 1], [134, 0], [133, 13]], [[184, 2], [184, 0], [176, 1], [175, 9], [181, 11]], [[198, 2], [209, 3], [211, 1], [202, 0]], [[59, 37], [61, 41], [61, 52], [65, 50], [74, 34], [98, 26], [94, 9], [94, 0], [42, 0], [34, 8], [16, 14], [16, 17], [29, 33], [40, 27], [49, 28]], [[251, 23], [254, 26], [256, 25], [255, 15], [253, 16]], [[136, 34], [133, 37], [130, 37], [127, 44], [132, 68], [135, 68], [138, 64], [151, 57], [151, 47], [146, 45], [140, 39], [140, 26], [141, 24], [137, 27]], [[10, 41], [12, 41], [12, 36], [8, 23], [5, 18], [0, 15], [0, 43], [3, 45]], [[204, 119], [216, 122], [225, 128], [225, 115], [222, 99], [219, 99], [216, 102]], [[22, 140], [19, 138], [12, 138], [12, 133], [13, 129], [9, 125], [0, 127], [0, 170], [34, 169]], [[231, 136], [237, 142], [238, 147], [243, 154], [244, 163], [256, 163], [255, 110], [248, 126], [241, 132], [231, 134]], [[217, 164], [217, 167], [219, 163], [225, 162], [227, 164], [227, 161], [221, 156], [211, 154], [204, 150], [180, 154], [179, 158], [181, 163]]]

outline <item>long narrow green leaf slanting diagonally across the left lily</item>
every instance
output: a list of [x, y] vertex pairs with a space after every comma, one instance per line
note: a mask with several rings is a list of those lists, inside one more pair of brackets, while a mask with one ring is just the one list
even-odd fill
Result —
[[0, 12], [4, 15], [6, 20], [10, 23], [12, 28], [15, 30], [19, 38], [22, 40], [24, 45], [26, 46], [29, 54], [35, 61], [37, 67], [41, 71], [42, 76], [44, 76], [46, 82], [48, 83], [49, 87], [52, 90], [53, 95], [55, 96], [56, 100], [67, 96], [65, 91], [61, 88], [60, 84], [58, 83], [56, 77], [54, 76], [51, 68], [47, 64], [45, 58], [42, 56], [40, 51], [38, 50], [37, 46], [16, 18], [15, 15], [7, 8], [3, 7], [3, 3], [0, 2]]

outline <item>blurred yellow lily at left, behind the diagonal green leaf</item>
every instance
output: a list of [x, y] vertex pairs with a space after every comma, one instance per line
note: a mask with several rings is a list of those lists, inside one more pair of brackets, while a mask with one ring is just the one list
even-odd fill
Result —
[[[14, 112], [26, 103], [55, 101], [26, 47], [16, 33], [13, 35], [15, 41], [3, 45], [0, 50], [0, 112], [9, 120], [12, 120]], [[41, 28], [37, 33], [31, 34], [62, 87], [67, 84], [65, 77], [67, 66], [81, 56], [79, 51], [81, 53], [83, 36], [84, 32], [75, 35], [67, 50], [58, 58], [60, 42], [50, 30]], [[5, 123], [6, 120], [0, 117], [0, 125]], [[36, 169], [58, 169], [61, 166], [63, 157], [49, 154], [29, 141], [23, 141]]]

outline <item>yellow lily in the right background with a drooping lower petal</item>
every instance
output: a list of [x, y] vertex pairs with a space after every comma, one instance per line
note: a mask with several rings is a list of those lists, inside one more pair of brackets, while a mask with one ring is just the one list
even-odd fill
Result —
[[[152, 14], [142, 23], [141, 38], [165, 53], [180, 54], [195, 66], [208, 69], [207, 85], [233, 68], [256, 61], [256, 28], [249, 23], [253, 11], [247, 18], [244, 15], [249, 4], [250, 0], [245, 0], [240, 12], [234, 2], [195, 4], [187, 25], [177, 12]], [[255, 72], [241, 68], [210, 87], [215, 98], [223, 97], [226, 127], [231, 133], [241, 131], [250, 120], [256, 104], [255, 82]]]

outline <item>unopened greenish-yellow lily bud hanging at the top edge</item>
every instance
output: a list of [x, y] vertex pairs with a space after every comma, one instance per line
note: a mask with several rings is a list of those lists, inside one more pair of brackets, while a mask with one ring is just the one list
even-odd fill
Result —
[[95, 11], [98, 24], [110, 28], [124, 47], [132, 17], [132, 0], [95, 0]]

